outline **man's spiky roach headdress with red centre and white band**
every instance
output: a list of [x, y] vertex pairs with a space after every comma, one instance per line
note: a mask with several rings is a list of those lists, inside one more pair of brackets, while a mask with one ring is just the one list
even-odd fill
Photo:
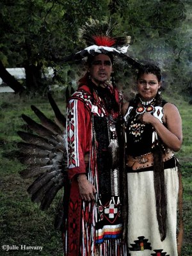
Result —
[[86, 47], [76, 52], [76, 54], [67, 56], [62, 61], [78, 61], [90, 55], [110, 53], [120, 56], [133, 67], [140, 68], [141, 64], [126, 54], [131, 42], [131, 36], [126, 33], [123, 35], [116, 34], [116, 28], [117, 24], [112, 25], [111, 22], [100, 23], [97, 20], [92, 20], [90, 24], [86, 22], [79, 31], [79, 38], [85, 42]]

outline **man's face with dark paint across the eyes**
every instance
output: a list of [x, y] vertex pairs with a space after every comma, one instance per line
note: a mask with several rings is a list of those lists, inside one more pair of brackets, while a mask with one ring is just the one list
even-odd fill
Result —
[[109, 80], [112, 72], [111, 59], [106, 54], [99, 54], [93, 58], [92, 65], [89, 68], [93, 83], [102, 86]]

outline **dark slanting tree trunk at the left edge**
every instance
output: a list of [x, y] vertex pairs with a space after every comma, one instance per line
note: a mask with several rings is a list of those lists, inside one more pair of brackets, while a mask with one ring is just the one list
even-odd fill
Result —
[[24, 92], [25, 88], [22, 86], [15, 77], [13, 77], [4, 67], [2, 61], [0, 60], [0, 77], [4, 83], [6, 83], [10, 88], [12, 88], [15, 93]]

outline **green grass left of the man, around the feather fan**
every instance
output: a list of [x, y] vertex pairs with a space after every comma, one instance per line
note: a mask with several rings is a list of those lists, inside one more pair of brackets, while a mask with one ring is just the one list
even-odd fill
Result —
[[[26, 191], [30, 180], [23, 180], [19, 176], [19, 170], [24, 166], [15, 157], [8, 159], [2, 156], [3, 152], [15, 150], [17, 131], [20, 130], [22, 118], [25, 113], [35, 117], [30, 108], [35, 104], [49, 117], [53, 117], [51, 106], [47, 99], [19, 99], [13, 95], [0, 95], [0, 237], [3, 244], [20, 246], [43, 246], [39, 250], [10, 250], [0, 249], [0, 255], [63, 255], [61, 232], [54, 230], [54, 213], [57, 200], [51, 209], [41, 211], [38, 204], [33, 204]], [[60, 108], [65, 110], [65, 103], [60, 100]], [[35, 118], [38, 120], [38, 118]]]

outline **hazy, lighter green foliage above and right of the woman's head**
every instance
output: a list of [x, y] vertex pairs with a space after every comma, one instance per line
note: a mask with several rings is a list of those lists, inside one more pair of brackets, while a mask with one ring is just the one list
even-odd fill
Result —
[[190, 5], [179, 0], [130, 0], [122, 17], [124, 29], [132, 36], [129, 54], [141, 62], [159, 65], [164, 85], [179, 93], [189, 93], [191, 87], [190, 10]]

